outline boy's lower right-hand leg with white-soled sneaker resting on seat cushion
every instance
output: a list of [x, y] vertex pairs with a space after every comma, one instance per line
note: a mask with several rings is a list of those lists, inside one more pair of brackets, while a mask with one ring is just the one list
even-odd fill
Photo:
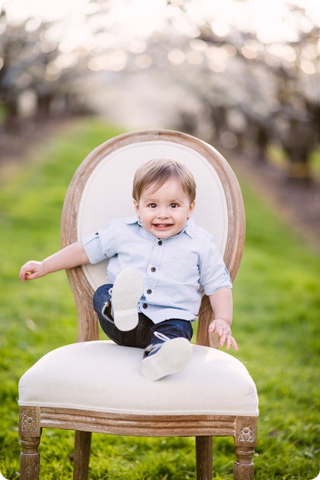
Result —
[[149, 380], [180, 372], [191, 360], [191, 322], [165, 320], [153, 326], [153, 338], [141, 362], [140, 371]]

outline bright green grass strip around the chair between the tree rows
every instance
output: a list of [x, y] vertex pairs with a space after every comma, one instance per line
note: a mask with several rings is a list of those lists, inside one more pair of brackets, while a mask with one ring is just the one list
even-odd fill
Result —
[[[21, 284], [20, 265], [59, 248], [63, 198], [94, 146], [117, 134], [84, 120], [56, 134], [0, 191], [0, 472], [18, 479], [18, 379], [52, 348], [75, 341], [76, 312], [64, 272]], [[320, 258], [241, 182], [247, 215], [234, 288], [233, 353], [260, 396], [255, 479], [311, 480], [320, 469]], [[73, 434], [45, 429], [41, 479], [71, 478]], [[233, 441], [215, 438], [215, 479], [231, 479]], [[196, 479], [193, 438], [94, 434], [89, 479]]]

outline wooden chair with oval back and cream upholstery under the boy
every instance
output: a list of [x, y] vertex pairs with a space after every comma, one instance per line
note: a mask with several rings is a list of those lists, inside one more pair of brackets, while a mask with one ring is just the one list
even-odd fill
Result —
[[[180, 132], [132, 132], [94, 149], [79, 166], [65, 198], [62, 246], [113, 217], [134, 214], [134, 172], [146, 160], [163, 156], [183, 161], [193, 172], [198, 187], [196, 223], [215, 235], [234, 279], [245, 237], [237, 179], [212, 146]], [[106, 283], [105, 264], [67, 273], [79, 316], [77, 343], [44, 355], [20, 379], [20, 479], [39, 478], [38, 446], [44, 427], [75, 430], [76, 480], [88, 476], [91, 432], [196, 436], [197, 479], [202, 480], [212, 479], [212, 436], [233, 436], [234, 479], [252, 479], [257, 391], [239, 360], [209, 348], [208, 298], [203, 296], [191, 362], [182, 372], [153, 382], [139, 373], [141, 349], [98, 340], [92, 296]]]

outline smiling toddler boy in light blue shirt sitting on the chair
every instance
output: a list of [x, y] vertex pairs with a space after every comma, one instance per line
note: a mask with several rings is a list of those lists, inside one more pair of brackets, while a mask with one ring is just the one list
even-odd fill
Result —
[[149, 160], [136, 171], [136, 215], [112, 220], [82, 241], [20, 270], [22, 281], [109, 258], [109, 284], [94, 293], [101, 328], [120, 345], [144, 349], [140, 371], [158, 380], [191, 359], [192, 322], [209, 296], [220, 345], [238, 350], [231, 335], [231, 280], [213, 237], [191, 218], [196, 184], [172, 158]]

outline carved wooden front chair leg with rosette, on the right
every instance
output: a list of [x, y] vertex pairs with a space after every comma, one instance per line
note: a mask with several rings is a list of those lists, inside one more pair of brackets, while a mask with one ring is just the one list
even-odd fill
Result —
[[257, 443], [257, 417], [238, 417], [234, 438], [236, 462], [234, 480], [253, 479], [253, 455]]

